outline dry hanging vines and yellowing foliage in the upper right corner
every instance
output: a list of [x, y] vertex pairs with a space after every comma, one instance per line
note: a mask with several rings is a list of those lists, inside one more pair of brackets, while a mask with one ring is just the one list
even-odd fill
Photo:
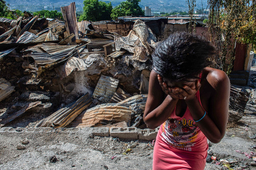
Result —
[[[228, 74], [233, 67], [234, 41], [256, 45], [256, 2], [253, 0], [211, 0], [209, 31], [218, 49], [215, 67]], [[227, 64], [229, 60], [230, 64]]]

